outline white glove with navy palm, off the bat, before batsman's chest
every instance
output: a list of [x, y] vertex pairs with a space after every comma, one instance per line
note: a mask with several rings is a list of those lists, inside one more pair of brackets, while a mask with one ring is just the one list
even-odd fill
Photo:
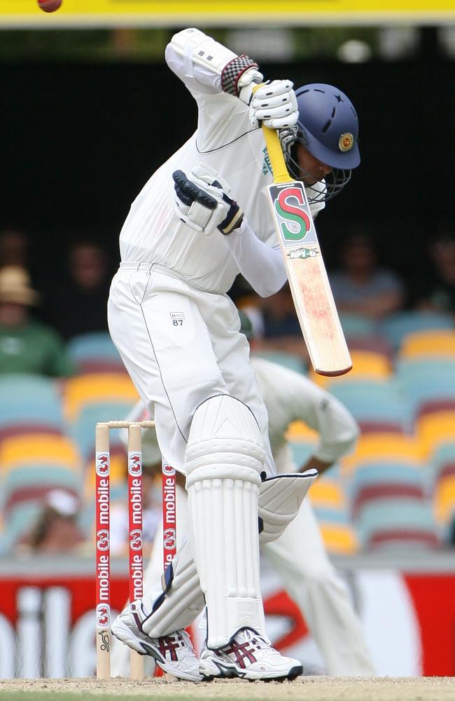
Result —
[[174, 214], [194, 231], [207, 236], [218, 229], [225, 236], [237, 229], [244, 212], [225, 192], [215, 172], [196, 166], [187, 177], [182, 170], [172, 173], [174, 179]]

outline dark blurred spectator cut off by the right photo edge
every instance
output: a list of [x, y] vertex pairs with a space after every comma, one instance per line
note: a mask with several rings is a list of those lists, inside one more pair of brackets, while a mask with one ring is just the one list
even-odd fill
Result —
[[437, 233], [428, 252], [433, 266], [421, 275], [416, 306], [455, 315], [455, 233], [449, 225]]

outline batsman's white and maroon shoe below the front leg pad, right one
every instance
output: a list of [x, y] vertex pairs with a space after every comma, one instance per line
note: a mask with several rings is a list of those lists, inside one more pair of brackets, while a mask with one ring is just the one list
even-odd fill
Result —
[[274, 650], [251, 628], [243, 628], [218, 650], [202, 647], [199, 671], [206, 679], [230, 678], [283, 681], [303, 673], [302, 663]]

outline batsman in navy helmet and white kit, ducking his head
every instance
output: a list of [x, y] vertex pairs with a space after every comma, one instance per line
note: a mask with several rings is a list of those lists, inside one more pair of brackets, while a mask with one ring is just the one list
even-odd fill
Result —
[[[197, 102], [197, 130], [132, 204], [108, 320], [162, 454], [186, 475], [190, 537], [159, 593], [132, 602], [112, 630], [181, 679], [294, 679], [302, 665], [275, 651], [265, 630], [258, 548], [292, 521], [317, 472], [276, 475], [267, 411], [226, 293], [239, 273], [262, 297], [286, 281], [262, 194], [272, 173], [260, 123], [280, 130], [314, 216], [360, 161], [357, 116], [332, 86], [294, 92], [279, 80], [254, 92], [258, 65], [198, 29], [175, 34], [166, 60]], [[201, 597], [207, 641], [197, 660], [184, 629]]]

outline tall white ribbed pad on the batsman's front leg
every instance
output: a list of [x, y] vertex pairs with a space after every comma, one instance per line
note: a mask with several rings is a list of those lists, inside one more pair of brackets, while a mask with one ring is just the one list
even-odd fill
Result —
[[209, 648], [228, 644], [244, 627], [266, 636], [258, 542], [264, 462], [261, 433], [245, 404], [219, 395], [197, 408], [186, 449], [186, 489]]

